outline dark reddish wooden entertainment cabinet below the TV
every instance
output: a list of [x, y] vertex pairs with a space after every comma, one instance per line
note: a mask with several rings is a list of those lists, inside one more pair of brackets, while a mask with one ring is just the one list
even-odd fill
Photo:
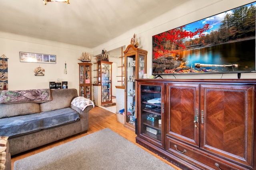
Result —
[[256, 169], [256, 80], [136, 83], [138, 144], [181, 169]]

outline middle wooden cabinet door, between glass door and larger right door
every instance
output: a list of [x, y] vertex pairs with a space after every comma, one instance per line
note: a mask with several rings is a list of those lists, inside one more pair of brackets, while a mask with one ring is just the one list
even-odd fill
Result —
[[199, 146], [199, 84], [167, 83], [166, 135]]

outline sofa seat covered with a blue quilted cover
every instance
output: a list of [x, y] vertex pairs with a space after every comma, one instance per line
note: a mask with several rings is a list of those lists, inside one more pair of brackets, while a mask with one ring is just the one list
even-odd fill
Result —
[[0, 119], [0, 136], [12, 137], [79, 120], [79, 114], [70, 107]]

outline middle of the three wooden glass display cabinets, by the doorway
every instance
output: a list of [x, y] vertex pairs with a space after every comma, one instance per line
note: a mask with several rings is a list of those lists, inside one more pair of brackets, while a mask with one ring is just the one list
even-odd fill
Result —
[[101, 104], [112, 103], [112, 62], [98, 61], [98, 84], [101, 84]]

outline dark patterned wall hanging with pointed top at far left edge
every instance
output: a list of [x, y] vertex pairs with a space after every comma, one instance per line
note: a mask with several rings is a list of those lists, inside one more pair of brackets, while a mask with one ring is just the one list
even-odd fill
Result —
[[8, 58], [5, 55], [0, 57], [0, 92], [8, 90]]

